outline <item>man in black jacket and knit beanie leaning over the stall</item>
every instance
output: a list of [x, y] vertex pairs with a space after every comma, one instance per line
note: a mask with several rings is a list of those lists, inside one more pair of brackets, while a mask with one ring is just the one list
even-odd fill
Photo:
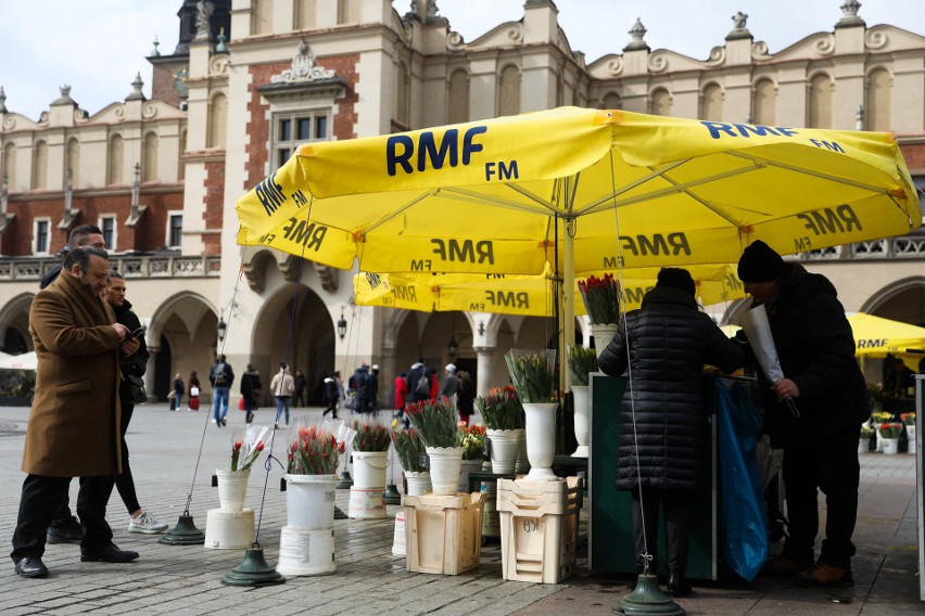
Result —
[[[785, 264], [764, 242], [746, 247], [738, 277], [752, 306], [768, 311], [785, 376], [772, 384], [759, 371], [765, 432], [772, 446], [784, 449], [790, 532], [765, 572], [795, 574], [800, 586], [852, 586], [858, 434], [871, 408], [851, 325], [825, 277]], [[813, 562], [818, 489], [826, 497], [826, 524], [819, 561]]]

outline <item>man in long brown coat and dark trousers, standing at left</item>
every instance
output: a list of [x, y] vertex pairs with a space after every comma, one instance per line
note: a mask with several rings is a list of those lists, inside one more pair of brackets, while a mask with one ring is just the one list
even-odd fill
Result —
[[46, 577], [46, 529], [71, 478], [80, 477], [77, 513], [86, 526], [81, 561], [124, 563], [138, 552], [112, 542], [106, 502], [119, 472], [119, 355], [128, 329], [115, 322], [100, 293], [106, 286], [105, 251], [71, 251], [62, 274], [33, 299], [29, 333], [38, 356], [36, 397], [26, 428], [20, 514], [13, 532], [16, 573]]

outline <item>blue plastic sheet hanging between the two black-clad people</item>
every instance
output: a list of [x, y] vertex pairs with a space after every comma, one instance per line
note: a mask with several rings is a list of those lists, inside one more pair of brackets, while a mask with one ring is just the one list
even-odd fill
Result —
[[761, 414], [740, 383], [717, 378], [723, 557], [748, 581], [768, 560], [768, 513], [755, 458]]

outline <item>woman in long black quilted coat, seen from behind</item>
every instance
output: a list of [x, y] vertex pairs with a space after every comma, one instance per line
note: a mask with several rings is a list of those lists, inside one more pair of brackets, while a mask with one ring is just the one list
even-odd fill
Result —
[[[705, 364], [732, 372], [746, 351], [698, 311], [687, 270], [664, 268], [642, 308], [628, 312], [598, 359], [630, 384], [620, 414], [617, 488], [633, 491], [637, 568], [655, 575], [659, 504], [664, 511], [668, 591], [690, 592], [685, 578], [692, 502], [710, 487], [710, 429], [704, 405]], [[651, 561], [651, 562], [649, 562]]]

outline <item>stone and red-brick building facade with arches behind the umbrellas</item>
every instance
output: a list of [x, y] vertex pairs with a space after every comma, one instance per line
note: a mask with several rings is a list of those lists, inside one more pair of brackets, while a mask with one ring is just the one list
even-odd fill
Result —
[[[39, 278], [74, 226], [94, 223], [149, 325], [159, 397], [176, 372], [206, 374], [218, 351], [267, 377], [287, 359], [309, 397], [325, 373], [346, 378], [379, 363], [383, 406], [418, 357], [435, 368], [452, 359], [480, 392], [505, 384], [503, 354], [545, 346], [549, 320], [353, 307], [355, 272], [237, 246], [236, 200], [299, 143], [559, 105], [892, 131], [925, 184], [925, 37], [869, 26], [856, 1], [840, 16], [831, 3], [832, 31], [773, 53], [738, 14], [706, 60], [649, 49], [637, 21], [622, 50], [587, 62], [552, 0], [527, 0], [521, 20], [472, 41], [433, 0], [409, 11], [390, 0], [185, 0], [174, 53], [149, 57], [151, 100], [140, 75], [123, 102], [93, 115], [62, 88], [33, 120], [8, 110], [0, 90], [0, 343], [30, 349]], [[925, 323], [922, 233], [798, 258], [832, 278], [849, 310]]]

